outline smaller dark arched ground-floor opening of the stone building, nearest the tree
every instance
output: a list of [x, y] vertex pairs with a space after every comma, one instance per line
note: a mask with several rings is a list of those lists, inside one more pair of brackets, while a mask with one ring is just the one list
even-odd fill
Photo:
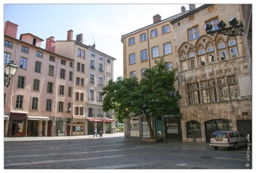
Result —
[[200, 122], [189, 121], [186, 124], [187, 138], [201, 138]]

